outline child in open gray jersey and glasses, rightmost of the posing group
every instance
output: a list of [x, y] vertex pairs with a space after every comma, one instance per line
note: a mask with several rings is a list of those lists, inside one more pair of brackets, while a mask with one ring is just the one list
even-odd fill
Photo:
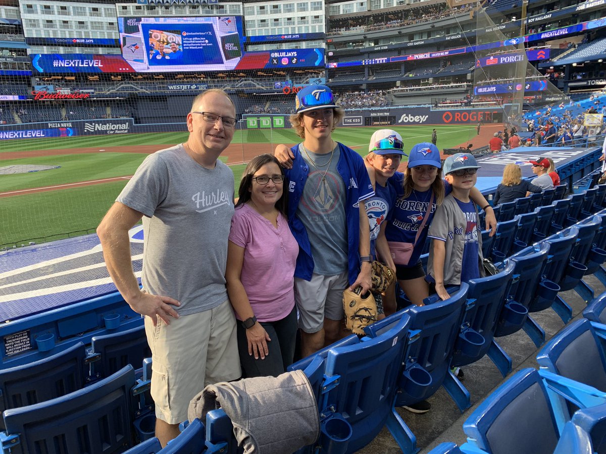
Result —
[[442, 300], [450, 298], [445, 286], [484, 277], [478, 210], [470, 198], [479, 168], [469, 153], [453, 154], [444, 161], [445, 178], [452, 192], [436, 210], [427, 235], [432, 240], [428, 280], [435, 283], [436, 293]]

